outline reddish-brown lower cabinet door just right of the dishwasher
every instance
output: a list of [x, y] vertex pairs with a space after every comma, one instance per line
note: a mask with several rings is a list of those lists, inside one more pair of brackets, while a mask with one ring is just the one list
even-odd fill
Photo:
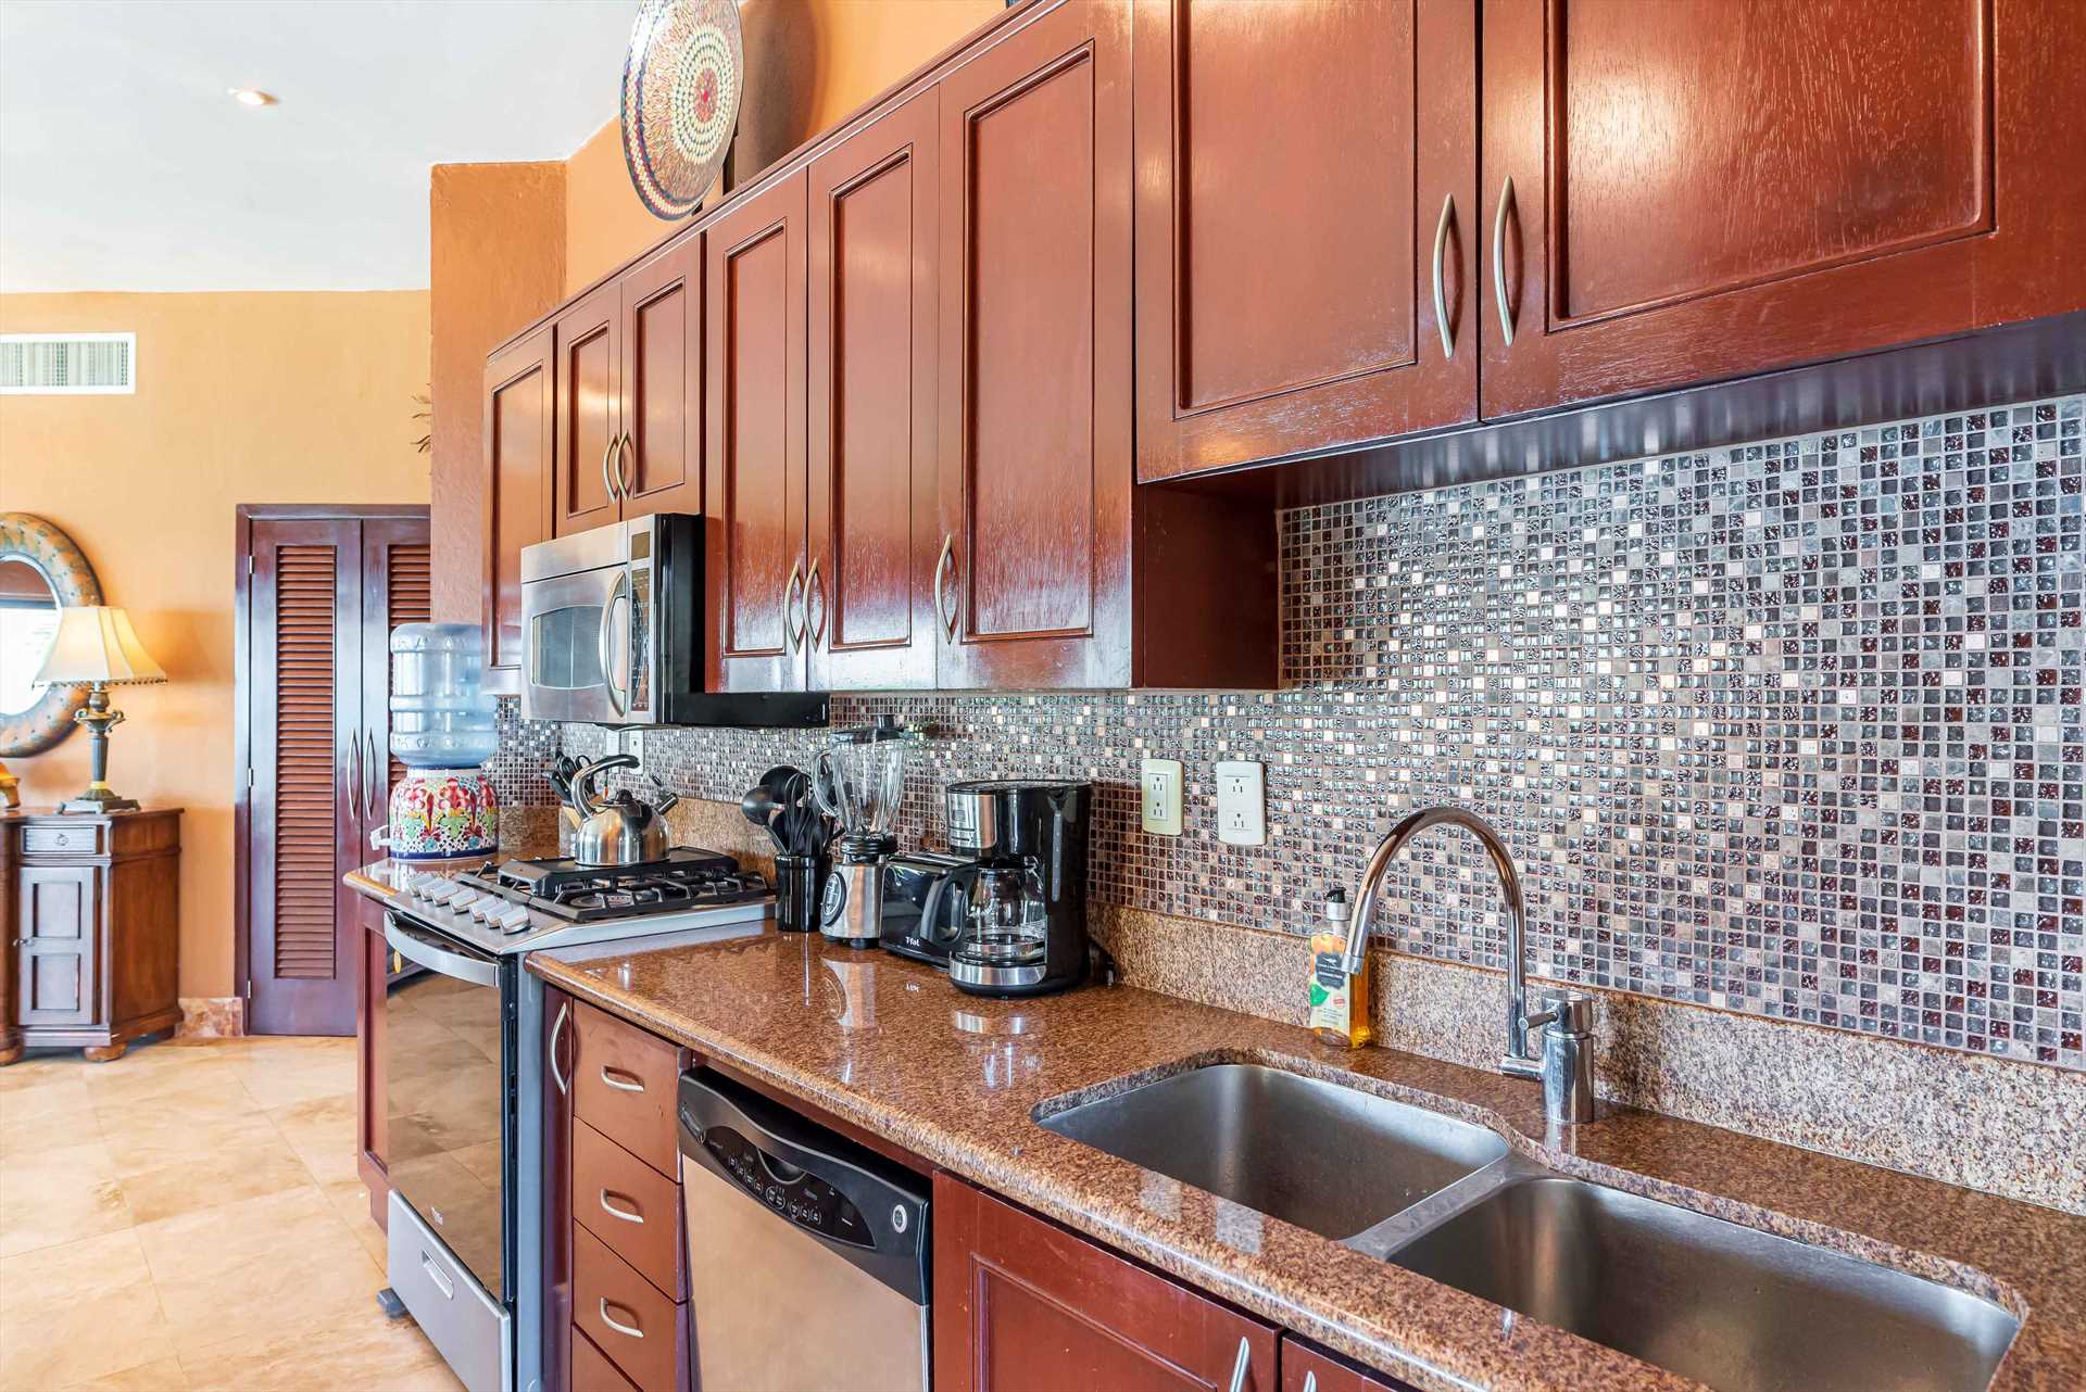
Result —
[[[1245, 1373], [1233, 1382], [1239, 1354]], [[935, 1175], [939, 1392], [1275, 1392], [1275, 1329]]]

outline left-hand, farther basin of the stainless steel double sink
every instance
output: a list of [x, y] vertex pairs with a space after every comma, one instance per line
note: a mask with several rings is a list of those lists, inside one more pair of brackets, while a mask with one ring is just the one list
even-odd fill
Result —
[[1325, 1238], [1506, 1154], [1481, 1125], [1254, 1063], [1216, 1063], [1039, 1121]]

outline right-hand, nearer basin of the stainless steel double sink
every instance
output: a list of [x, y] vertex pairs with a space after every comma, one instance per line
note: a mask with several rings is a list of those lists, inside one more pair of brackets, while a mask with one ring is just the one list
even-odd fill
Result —
[[1389, 1259], [1717, 1392], [1973, 1392], [2019, 1323], [1917, 1275], [1562, 1177], [1496, 1188]]

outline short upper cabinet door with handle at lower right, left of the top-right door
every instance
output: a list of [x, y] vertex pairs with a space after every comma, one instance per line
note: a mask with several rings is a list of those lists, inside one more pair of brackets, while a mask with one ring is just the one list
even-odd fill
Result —
[[1135, 67], [1137, 475], [1477, 419], [1475, 0], [1139, 4]]

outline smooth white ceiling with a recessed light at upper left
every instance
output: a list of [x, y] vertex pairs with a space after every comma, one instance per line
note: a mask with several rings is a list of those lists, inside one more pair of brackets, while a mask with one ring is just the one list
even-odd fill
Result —
[[634, 15], [0, 0], [0, 290], [421, 288], [428, 167], [572, 154], [615, 115]]

